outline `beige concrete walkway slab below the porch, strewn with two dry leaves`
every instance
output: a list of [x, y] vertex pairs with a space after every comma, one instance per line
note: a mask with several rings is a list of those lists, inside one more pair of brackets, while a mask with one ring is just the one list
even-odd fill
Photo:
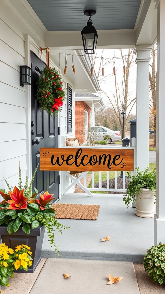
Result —
[[[63, 273], [70, 275], [65, 279]], [[123, 277], [107, 285], [108, 275]], [[44, 281], [44, 282], [42, 282]], [[100, 260], [68, 260], [49, 258], [30, 294], [139, 294], [133, 263]]]

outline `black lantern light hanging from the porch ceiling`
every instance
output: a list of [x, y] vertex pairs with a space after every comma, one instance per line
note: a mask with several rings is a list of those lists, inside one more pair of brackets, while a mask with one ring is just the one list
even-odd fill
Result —
[[83, 39], [83, 46], [84, 51], [86, 54], [95, 53], [96, 44], [97, 44], [97, 31], [94, 26], [92, 26], [92, 21], [90, 17], [95, 15], [95, 10], [85, 10], [84, 14], [89, 16], [89, 20], [87, 21], [87, 26], [81, 31], [82, 39]]

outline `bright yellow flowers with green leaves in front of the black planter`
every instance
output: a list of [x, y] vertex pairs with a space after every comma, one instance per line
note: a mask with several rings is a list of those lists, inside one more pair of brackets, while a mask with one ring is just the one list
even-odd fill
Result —
[[16, 246], [13, 250], [5, 245], [0, 245], [0, 284], [2, 286], [10, 286], [8, 277], [14, 277], [14, 270], [21, 268], [28, 270], [28, 266], [32, 264], [32, 252], [27, 245]]

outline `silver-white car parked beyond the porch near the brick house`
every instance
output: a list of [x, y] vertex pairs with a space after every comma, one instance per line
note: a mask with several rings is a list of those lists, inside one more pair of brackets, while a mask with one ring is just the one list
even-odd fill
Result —
[[121, 140], [120, 131], [112, 131], [109, 128], [103, 126], [95, 126], [89, 129], [89, 133], [93, 136], [93, 141], [103, 141], [105, 135], [110, 135], [108, 144]]

